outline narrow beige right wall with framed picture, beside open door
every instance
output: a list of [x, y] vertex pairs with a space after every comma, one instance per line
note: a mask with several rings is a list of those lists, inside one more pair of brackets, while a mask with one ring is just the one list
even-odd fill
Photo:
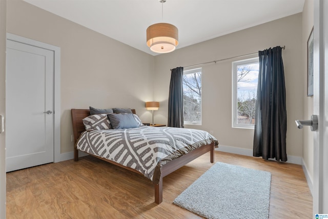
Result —
[[[314, 1], [313, 0], [305, 0], [303, 13], [302, 13], [302, 75], [303, 75], [303, 87], [306, 88], [308, 83], [307, 77], [307, 45], [308, 39], [313, 28], [313, 19], [314, 19]], [[303, 92], [303, 119], [309, 120], [311, 115], [313, 114], [313, 96], [308, 97], [307, 90], [304, 89]], [[313, 132], [311, 132], [309, 127], [303, 128], [303, 165], [308, 172], [308, 181], [310, 180], [310, 186], [313, 184]]]

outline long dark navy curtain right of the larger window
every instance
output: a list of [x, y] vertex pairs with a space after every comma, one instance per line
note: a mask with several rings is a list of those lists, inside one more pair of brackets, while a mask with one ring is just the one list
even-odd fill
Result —
[[286, 92], [281, 47], [259, 51], [253, 156], [287, 161]]

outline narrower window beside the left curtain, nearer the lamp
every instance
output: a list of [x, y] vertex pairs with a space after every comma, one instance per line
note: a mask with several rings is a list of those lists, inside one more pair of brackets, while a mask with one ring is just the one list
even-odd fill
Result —
[[185, 124], [201, 125], [201, 68], [183, 71], [182, 85]]

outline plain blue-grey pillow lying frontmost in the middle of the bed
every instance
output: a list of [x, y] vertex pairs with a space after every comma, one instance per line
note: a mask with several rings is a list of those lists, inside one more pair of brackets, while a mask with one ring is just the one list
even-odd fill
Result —
[[130, 129], [139, 127], [139, 124], [132, 113], [108, 114], [107, 116], [113, 129]]

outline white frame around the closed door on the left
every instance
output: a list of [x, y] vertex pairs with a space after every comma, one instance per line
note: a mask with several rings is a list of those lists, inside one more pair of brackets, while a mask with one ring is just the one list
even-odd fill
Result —
[[7, 39], [54, 52], [54, 162], [63, 161], [60, 154], [60, 47], [7, 33]]

